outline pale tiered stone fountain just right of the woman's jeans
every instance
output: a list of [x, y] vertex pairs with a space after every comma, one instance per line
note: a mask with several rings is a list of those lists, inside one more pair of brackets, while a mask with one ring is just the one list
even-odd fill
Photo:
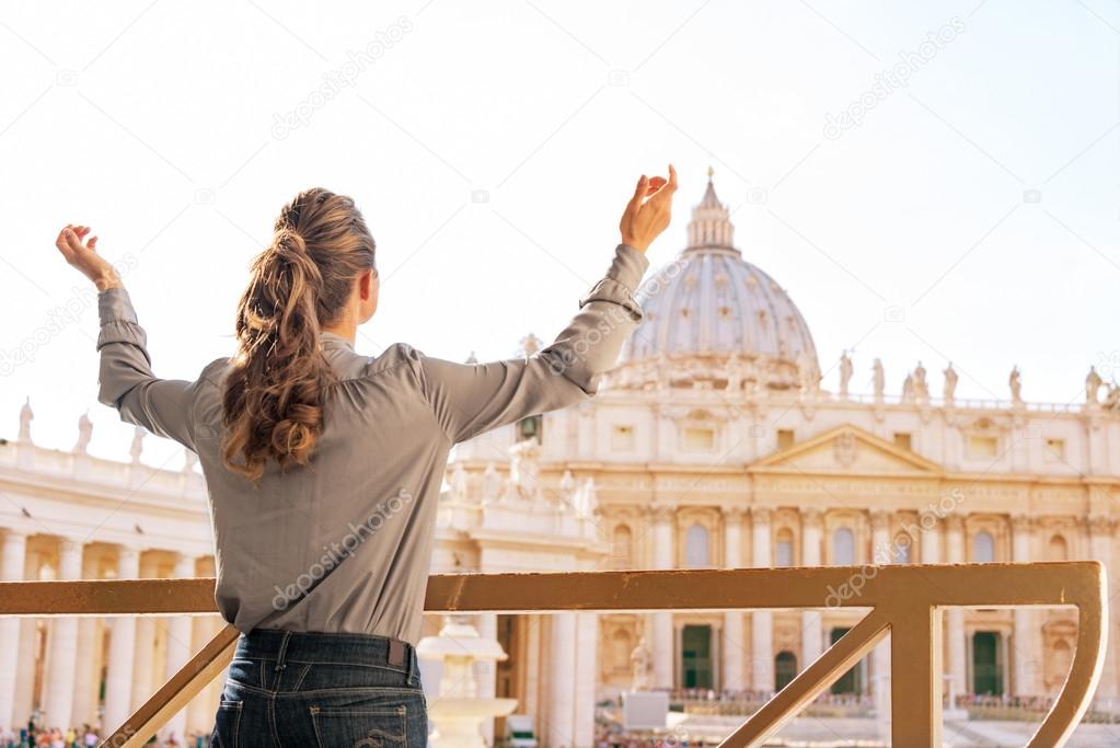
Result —
[[480, 699], [475, 680], [476, 662], [505, 660], [502, 645], [484, 639], [478, 630], [456, 616], [446, 616], [439, 636], [426, 636], [417, 645], [421, 660], [442, 662], [438, 698], [428, 705], [428, 718], [436, 730], [429, 737], [432, 748], [486, 748], [483, 723], [505, 717], [517, 705], [516, 699]]

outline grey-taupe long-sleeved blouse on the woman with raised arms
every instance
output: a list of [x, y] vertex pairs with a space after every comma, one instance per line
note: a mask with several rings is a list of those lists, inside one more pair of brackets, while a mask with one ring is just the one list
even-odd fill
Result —
[[548, 347], [528, 358], [455, 364], [404, 344], [377, 357], [323, 333], [338, 374], [310, 464], [270, 462], [256, 484], [222, 465], [228, 358], [194, 382], [152, 374], [124, 289], [99, 294], [100, 401], [198, 454], [209, 494], [222, 616], [242, 632], [365, 633], [416, 643], [436, 504], [451, 447], [595, 394], [642, 320], [648, 267], [619, 244], [603, 280]]

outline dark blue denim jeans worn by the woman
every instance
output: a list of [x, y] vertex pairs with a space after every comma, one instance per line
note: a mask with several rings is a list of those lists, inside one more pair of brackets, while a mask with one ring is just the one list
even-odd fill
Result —
[[211, 748], [424, 748], [416, 652], [361, 634], [242, 634]]

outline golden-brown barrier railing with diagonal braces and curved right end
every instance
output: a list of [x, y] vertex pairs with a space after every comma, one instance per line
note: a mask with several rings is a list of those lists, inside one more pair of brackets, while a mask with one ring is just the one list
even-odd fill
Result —
[[[1108, 600], [1104, 568], [1077, 561], [439, 574], [429, 579], [428, 613], [564, 610], [728, 610], [823, 608], [870, 611], [752, 714], [722, 744], [760, 746], [834, 680], [890, 636], [892, 742], [942, 745], [941, 611], [949, 607], [1077, 608], [1077, 646], [1065, 684], [1028, 746], [1062, 746], [1089, 707], [1104, 663]], [[858, 593], [837, 596], [859, 579]], [[847, 586], [847, 587], [844, 587]], [[831, 596], [831, 598], [830, 598]], [[212, 614], [213, 579], [0, 582], [0, 616]], [[228, 664], [239, 633], [226, 626], [102, 746], [133, 748], [183, 709]]]

